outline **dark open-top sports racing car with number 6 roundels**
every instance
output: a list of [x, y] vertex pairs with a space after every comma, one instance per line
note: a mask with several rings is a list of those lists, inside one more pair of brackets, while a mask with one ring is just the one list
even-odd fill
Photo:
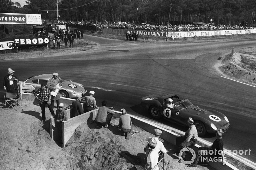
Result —
[[[165, 106], [166, 100], [171, 98], [173, 108]], [[194, 120], [198, 136], [208, 133], [215, 133], [219, 128], [224, 132], [229, 128], [228, 118], [215, 110], [205, 110], [193, 105], [188, 99], [180, 98], [177, 95], [167, 94], [161, 97], [149, 95], [141, 98], [140, 105], [149, 111], [149, 114], [156, 119], [162, 117], [188, 126], [188, 118]]]

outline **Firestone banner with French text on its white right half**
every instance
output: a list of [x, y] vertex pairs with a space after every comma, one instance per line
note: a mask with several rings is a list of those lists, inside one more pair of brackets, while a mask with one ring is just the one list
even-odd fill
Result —
[[0, 13], [0, 24], [41, 25], [41, 14]]

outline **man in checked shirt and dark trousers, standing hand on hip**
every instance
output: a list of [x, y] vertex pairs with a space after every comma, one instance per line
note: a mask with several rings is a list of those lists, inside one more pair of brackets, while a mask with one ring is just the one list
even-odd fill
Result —
[[[38, 96], [37, 96], [38, 94]], [[39, 100], [39, 105], [41, 107], [42, 110], [42, 121], [45, 121], [45, 105], [48, 105], [48, 108], [52, 114], [53, 117], [55, 117], [54, 115], [54, 111], [52, 109], [52, 105], [51, 105], [51, 92], [48, 88], [45, 87], [45, 84], [41, 84], [41, 88], [37, 89], [36, 92], [34, 92], [34, 95], [36, 97], [37, 100]]]

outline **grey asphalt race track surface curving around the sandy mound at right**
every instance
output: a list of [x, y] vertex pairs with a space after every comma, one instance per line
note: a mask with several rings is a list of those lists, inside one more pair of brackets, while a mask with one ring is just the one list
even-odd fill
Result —
[[[148, 116], [140, 107], [141, 97], [167, 93], [187, 97], [196, 106], [225, 114], [230, 128], [225, 133], [224, 148], [251, 149], [245, 158], [256, 162], [256, 88], [220, 77], [214, 69], [219, 57], [235, 50], [255, 46], [255, 40], [204, 43], [130, 42], [84, 36], [100, 45], [89, 51], [64, 56], [46, 56], [0, 62], [4, 77], [8, 68], [15, 70], [20, 81], [30, 76], [58, 72], [60, 77], [94, 90], [97, 105], [107, 100], [108, 106], [128, 113]], [[0, 79], [1, 91], [3, 79]], [[150, 118], [151, 119], [151, 118]], [[186, 131], [165, 120], [159, 123]], [[163, 125], [163, 126], [165, 126]], [[206, 140], [213, 142], [214, 135]]]

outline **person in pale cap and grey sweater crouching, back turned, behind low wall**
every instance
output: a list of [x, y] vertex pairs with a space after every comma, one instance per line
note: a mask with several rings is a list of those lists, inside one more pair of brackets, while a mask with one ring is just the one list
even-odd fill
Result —
[[132, 133], [132, 121], [130, 115], [126, 114], [125, 109], [121, 109], [122, 115], [119, 118], [119, 128], [121, 129], [121, 135], [126, 139], [130, 139], [130, 133]]

